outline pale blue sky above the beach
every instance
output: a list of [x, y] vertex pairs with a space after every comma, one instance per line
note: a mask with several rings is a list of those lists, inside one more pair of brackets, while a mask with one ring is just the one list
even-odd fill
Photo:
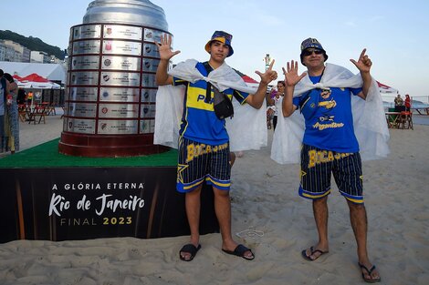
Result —
[[[123, 0], [121, 0], [123, 1]], [[145, 1], [145, 0], [141, 0]], [[82, 24], [91, 0], [20, 0], [0, 17], [0, 29], [34, 36], [61, 49], [68, 47], [69, 29]], [[281, 67], [299, 60], [299, 46], [308, 37], [319, 40], [328, 62], [358, 70], [363, 48], [373, 63], [371, 75], [412, 97], [429, 96], [429, 1], [427, 0], [152, 0], [164, 10], [173, 63], [188, 58], [208, 60], [204, 45], [215, 30], [233, 35], [235, 54], [226, 63], [248, 76], [265, 70], [265, 56]], [[10, 9], [10, 8], [14, 9]], [[426, 35], [426, 36], [424, 36]], [[423, 50], [423, 52], [419, 52]], [[299, 72], [305, 71], [299, 66]]]

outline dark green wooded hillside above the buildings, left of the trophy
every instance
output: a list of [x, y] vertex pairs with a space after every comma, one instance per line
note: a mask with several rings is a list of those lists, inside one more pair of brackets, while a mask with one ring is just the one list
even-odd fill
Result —
[[45, 43], [38, 37], [33, 37], [33, 36], [26, 37], [26, 36], [16, 34], [9, 30], [5, 30], [5, 31], [0, 30], [0, 39], [14, 41], [21, 46], [26, 46], [26, 48], [28, 48], [29, 50], [43, 51], [43, 52], [46, 52], [47, 55], [56, 56], [59, 59], [64, 59], [64, 56], [65, 56], [64, 50], [61, 50], [58, 46], [47, 45], [47, 43]]

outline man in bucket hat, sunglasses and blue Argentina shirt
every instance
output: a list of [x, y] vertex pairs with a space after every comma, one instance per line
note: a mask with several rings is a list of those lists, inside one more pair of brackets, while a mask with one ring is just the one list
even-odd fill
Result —
[[319, 242], [302, 250], [302, 257], [313, 261], [329, 252], [327, 202], [332, 173], [350, 209], [362, 279], [378, 282], [381, 280], [379, 272], [367, 252], [361, 155], [353, 127], [355, 113], [352, 112], [353, 100], [365, 102], [370, 88], [371, 94], [374, 92], [370, 75], [372, 63], [365, 53], [363, 49], [358, 61], [351, 59], [360, 71], [360, 75], [354, 76], [344, 67], [325, 64], [328, 55], [317, 39], [304, 40], [300, 61], [308, 70], [299, 76], [298, 62], [293, 60], [288, 62], [287, 70], [283, 68], [287, 87], [282, 111], [284, 117], [290, 117], [299, 109], [305, 119], [299, 195], [312, 200]]

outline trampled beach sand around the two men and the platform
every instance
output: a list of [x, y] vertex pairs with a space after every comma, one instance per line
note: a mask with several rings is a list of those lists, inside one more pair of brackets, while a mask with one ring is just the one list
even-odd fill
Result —
[[[61, 129], [58, 116], [46, 125], [22, 123], [22, 149], [59, 137]], [[429, 284], [429, 126], [390, 132], [391, 155], [363, 163], [370, 258], [382, 284]], [[253, 261], [222, 252], [220, 234], [202, 236], [192, 262], [178, 254], [188, 237], [17, 240], [0, 244], [0, 284], [363, 283], [349, 211], [336, 187], [330, 253], [302, 259], [300, 251], [317, 242], [311, 202], [298, 197], [298, 165], [278, 165], [269, 152], [246, 151], [232, 173], [233, 233], [253, 249]]]

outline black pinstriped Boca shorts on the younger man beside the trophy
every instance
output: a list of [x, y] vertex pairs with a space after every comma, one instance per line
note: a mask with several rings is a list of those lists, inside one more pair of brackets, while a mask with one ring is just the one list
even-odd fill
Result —
[[215, 188], [231, 186], [229, 143], [211, 146], [181, 137], [177, 166], [177, 191], [185, 193], [206, 181]]

